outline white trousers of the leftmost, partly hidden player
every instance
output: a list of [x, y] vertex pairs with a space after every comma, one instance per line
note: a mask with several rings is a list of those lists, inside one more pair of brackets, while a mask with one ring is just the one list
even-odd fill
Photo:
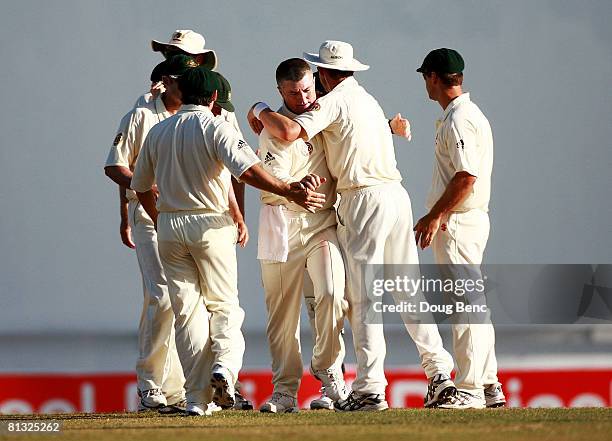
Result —
[[161, 388], [168, 403], [175, 403], [184, 397], [185, 378], [174, 344], [174, 313], [157, 251], [157, 233], [138, 201], [129, 202], [128, 222], [144, 294], [138, 326], [138, 389]]

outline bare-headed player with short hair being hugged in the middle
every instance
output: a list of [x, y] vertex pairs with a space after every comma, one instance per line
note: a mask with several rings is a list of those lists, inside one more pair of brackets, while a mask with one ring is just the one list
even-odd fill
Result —
[[[276, 82], [283, 98], [279, 112], [295, 118], [316, 100], [312, 71], [304, 60], [291, 58], [276, 69]], [[344, 311], [344, 262], [336, 236], [336, 183], [331, 178], [325, 151], [317, 142], [297, 139], [284, 142], [263, 130], [259, 137], [259, 156], [263, 168], [284, 182], [301, 179], [310, 173], [325, 177], [319, 191], [325, 205], [310, 213], [273, 193], [262, 192], [259, 258], [264, 284], [268, 323], [266, 334], [272, 356], [274, 393], [260, 410], [270, 413], [297, 412], [297, 392], [303, 373], [300, 349], [300, 306], [304, 270], [312, 281], [313, 297], [307, 296], [312, 310], [314, 348], [313, 375], [322, 383], [322, 397], [313, 408], [327, 407], [346, 398], [348, 388], [341, 370], [344, 358], [342, 327]], [[286, 234], [279, 234], [282, 227]], [[282, 237], [279, 237], [282, 236]], [[278, 244], [285, 248], [270, 247]], [[327, 400], [325, 399], [327, 398]], [[327, 404], [327, 406], [325, 406]]]

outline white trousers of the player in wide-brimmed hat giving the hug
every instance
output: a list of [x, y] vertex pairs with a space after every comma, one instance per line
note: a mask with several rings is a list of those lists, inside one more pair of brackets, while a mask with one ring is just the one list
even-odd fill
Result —
[[[372, 300], [362, 286], [366, 264], [418, 264], [410, 197], [400, 183], [381, 184], [342, 192], [338, 207], [338, 240], [346, 276], [348, 318], [353, 331], [357, 376], [353, 391], [384, 394], [386, 354], [382, 323], [367, 323]], [[428, 378], [450, 375], [451, 355], [442, 346], [435, 323], [414, 323], [404, 317]]]

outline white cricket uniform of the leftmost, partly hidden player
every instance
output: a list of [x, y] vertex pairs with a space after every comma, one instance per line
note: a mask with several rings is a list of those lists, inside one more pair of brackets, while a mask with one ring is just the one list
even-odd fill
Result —
[[[147, 133], [169, 116], [161, 96], [128, 112], [121, 120], [106, 166], [123, 166], [133, 171]], [[157, 233], [136, 193], [127, 189], [126, 196], [144, 293], [138, 326], [138, 389], [161, 388], [168, 402], [174, 403], [183, 398], [185, 379], [174, 344], [174, 314], [157, 250]]]

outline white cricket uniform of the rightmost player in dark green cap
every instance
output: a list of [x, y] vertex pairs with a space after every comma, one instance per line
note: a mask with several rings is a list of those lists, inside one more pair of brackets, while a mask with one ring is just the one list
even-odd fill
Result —
[[[476, 176], [476, 182], [472, 193], [443, 220], [446, 231], [440, 230], [434, 236], [434, 258], [437, 264], [478, 266], [489, 237], [493, 169], [491, 126], [470, 100], [469, 93], [451, 101], [436, 126], [436, 160], [427, 208], [431, 210], [456, 173], [465, 171]], [[452, 329], [457, 361], [455, 383], [460, 389], [484, 398], [483, 386], [497, 382], [493, 325], [490, 322], [464, 323], [455, 324]]]

